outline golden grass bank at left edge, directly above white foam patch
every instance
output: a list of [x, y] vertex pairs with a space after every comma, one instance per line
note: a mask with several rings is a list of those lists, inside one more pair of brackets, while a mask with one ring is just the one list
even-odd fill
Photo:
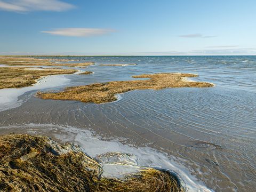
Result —
[[31, 86], [47, 75], [73, 74], [73, 69], [42, 69], [24, 67], [0, 67], [0, 89]]

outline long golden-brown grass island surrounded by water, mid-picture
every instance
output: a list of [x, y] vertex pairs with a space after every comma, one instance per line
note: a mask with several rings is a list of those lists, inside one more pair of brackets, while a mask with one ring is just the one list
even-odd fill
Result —
[[85, 86], [67, 87], [62, 92], [38, 92], [42, 99], [78, 100], [82, 102], [103, 103], [115, 101], [116, 94], [132, 90], [154, 89], [169, 87], [211, 87], [213, 84], [205, 82], [186, 81], [185, 77], [196, 77], [195, 74], [162, 73], [152, 75], [138, 75], [134, 78], [149, 78], [137, 81], [114, 81], [109, 83], [95, 83]]

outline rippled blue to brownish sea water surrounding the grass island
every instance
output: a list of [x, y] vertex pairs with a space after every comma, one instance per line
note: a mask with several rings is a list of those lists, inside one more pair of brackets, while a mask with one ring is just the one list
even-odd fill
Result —
[[[85, 140], [99, 135], [101, 142], [109, 142], [109, 146], [106, 144], [106, 150], [103, 150], [105, 153], [111, 149], [118, 151], [117, 148], [111, 148], [111, 143], [117, 142], [134, 149], [148, 148], [150, 151], [170, 156], [170, 162], [176, 161], [172, 164], [176, 169], [173, 166], [168, 167], [166, 159], [163, 163], [162, 156], [154, 156], [147, 150], [144, 154], [148, 153], [149, 156], [144, 158], [152, 158], [152, 161], [142, 162], [145, 166], [174, 169], [178, 174], [180, 166], [181, 179], [185, 174], [189, 175], [188, 179], [183, 179], [184, 182], [193, 180], [190, 184], [196, 183], [198, 190], [203, 191], [202, 186], [205, 186], [214, 191], [255, 191], [256, 57], [65, 59], [94, 61], [96, 65], [84, 69], [94, 73], [57, 76], [59, 78], [55, 81], [60, 82], [55, 82], [55, 86], [39, 86], [21, 91], [22, 94], [17, 99], [12, 98], [10, 105], [4, 101], [4, 93], [0, 90], [0, 134], [15, 131], [52, 135], [63, 142], [77, 142], [85, 150], [86, 146], [87, 150], [93, 149], [90, 150], [93, 151], [92, 156], [101, 152], [99, 148], [89, 146], [93, 143], [91, 140]], [[138, 65], [99, 66], [114, 63]], [[136, 90], [118, 95], [116, 102], [100, 105], [42, 100], [34, 96], [37, 89], [58, 90], [65, 86], [132, 80], [133, 75], [145, 73], [171, 72], [198, 74], [199, 77], [191, 80], [210, 82], [215, 86]], [[46, 126], [49, 124], [52, 126]], [[93, 132], [94, 136], [85, 134], [87, 130]], [[95, 145], [97, 140], [93, 139]], [[123, 147], [120, 150], [132, 153], [130, 149], [125, 150]], [[134, 150], [134, 153], [138, 159], [143, 160], [142, 152]], [[191, 191], [195, 191], [196, 185], [190, 186]]]

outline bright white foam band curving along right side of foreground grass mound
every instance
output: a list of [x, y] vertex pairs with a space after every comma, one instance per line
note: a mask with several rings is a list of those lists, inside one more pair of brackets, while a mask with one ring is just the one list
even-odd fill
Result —
[[[68, 130], [70, 130], [70, 128], [71, 127], [69, 127]], [[74, 129], [73, 127], [71, 128], [71, 130], [77, 131], [77, 129]], [[74, 142], [79, 143], [79, 145], [81, 145], [86, 153], [92, 157], [108, 152], [122, 152], [126, 154], [133, 154], [138, 157], [138, 166], [158, 167], [176, 172], [185, 183], [187, 191], [211, 191], [207, 189], [202, 183], [199, 183], [197, 179], [190, 174], [189, 170], [186, 169], [184, 165], [174, 161], [174, 159], [167, 154], [159, 153], [153, 148], [136, 148], [123, 145], [118, 141], [103, 141], [100, 140], [100, 138], [93, 137], [90, 131], [78, 131]], [[112, 165], [112, 168], [113, 167], [114, 166]], [[130, 169], [132, 168], [130, 167]], [[105, 175], [110, 175], [111, 173], [113, 173], [113, 171], [107, 172], [111, 170], [112, 169], [105, 170]], [[127, 171], [126, 169], [124, 170]], [[118, 174], [121, 174], [120, 171], [121, 170], [119, 170]]]

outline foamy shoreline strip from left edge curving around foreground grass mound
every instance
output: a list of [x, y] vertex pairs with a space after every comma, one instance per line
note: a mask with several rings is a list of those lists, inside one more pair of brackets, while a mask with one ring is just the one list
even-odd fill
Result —
[[[28, 127], [31, 128], [28, 129]], [[119, 142], [116, 139], [102, 140], [103, 138], [95, 135], [90, 130], [78, 129], [76, 127], [63, 125], [25, 124], [1, 127], [1, 129], [2, 132], [3, 130], [5, 130], [4, 134], [10, 132], [17, 132], [18, 134], [25, 133], [33, 135], [44, 135], [46, 137], [51, 137], [53, 138], [53, 140], [60, 142], [61, 145], [67, 142], [75, 143], [76, 145], [81, 147], [86, 154], [93, 158], [99, 158], [100, 156], [101, 159], [109, 158], [109, 160], [107, 160], [106, 163], [104, 163], [104, 160], [103, 164], [101, 163], [103, 166], [103, 171], [105, 169], [105, 173], [103, 173], [105, 177], [116, 177], [117, 179], [122, 179], [127, 174], [127, 171], [130, 171], [130, 174], [136, 173], [136, 167], [138, 166], [152, 167], [160, 170], [169, 170], [173, 174], [177, 174], [181, 182], [181, 186], [185, 187], [187, 191], [212, 191], [205, 187], [202, 183], [198, 182], [195, 176], [190, 174], [190, 171], [187, 169], [187, 167], [181, 164], [181, 159], [175, 159], [165, 153], [161, 153], [156, 149], [150, 147], [129, 146]], [[116, 159], [116, 153], [121, 154], [121, 158], [117, 158], [119, 159], [118, 161], [121, 162], [108, 164], [108, 162], [111, 161], [111, 158]], [[111, 157], [109, 156], [109, 154], [114, 154], [114, 156]], [[123, 161], [126, 162], [127, 166], [120, 166]]]

